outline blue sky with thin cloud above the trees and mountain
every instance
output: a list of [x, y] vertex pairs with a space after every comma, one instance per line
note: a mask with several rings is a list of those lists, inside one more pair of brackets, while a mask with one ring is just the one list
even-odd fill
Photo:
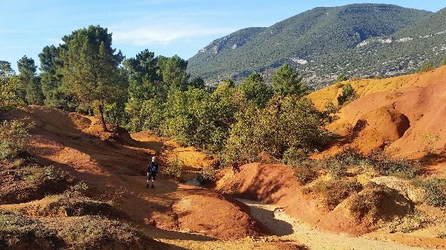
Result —
[[190, 58], [209, 42], [248, 26], [271, 26], [318, 6], [392, 3], [438, 11], [437, 1], [242, 1], [242, 0], [0, 0], [0, 60], [17, 68], [26, 54], [38, 63], [45, 45], [58, 45], [75, 29], [100, 24], [113, 33], [113, 45], [126, 55], [142, 49]]

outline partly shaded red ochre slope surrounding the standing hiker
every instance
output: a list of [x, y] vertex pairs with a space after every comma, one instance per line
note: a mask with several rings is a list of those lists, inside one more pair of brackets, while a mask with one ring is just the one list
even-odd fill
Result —
[[91, 195], [113, 200], [134, 221], [225, 240], [267, 233], [246, 205], [212, 190], [163, 175], [156, 180], [156, 189], [146, 189], [147, 162], [151, 155], [161, 156], [165, 146], [161, 138], [144, 133], [132, 138], [125, 130], [102, 132], [97, 118], [47, 107], [26, 107], [10, 116], [29, 117], [36, 123], [31, 130], [32, 150], [39, 162], [83, 180]]

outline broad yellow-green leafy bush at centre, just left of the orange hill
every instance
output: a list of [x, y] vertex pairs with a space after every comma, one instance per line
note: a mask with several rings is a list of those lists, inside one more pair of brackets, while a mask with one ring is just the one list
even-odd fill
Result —
[[281, 159], [290, 148], [305, 151], [326, 146], [332, 134], [323, 129], [324, 116], [310, 100], [275, 95], [265, 109], [248, 107], [236, 116], [226, 144], [232, 159], [250, 162], [261, 152]]

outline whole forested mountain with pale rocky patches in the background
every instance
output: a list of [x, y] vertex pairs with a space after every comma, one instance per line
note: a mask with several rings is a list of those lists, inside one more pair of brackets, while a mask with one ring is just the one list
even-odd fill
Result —
[[316, 87], [340, 74], [401, 75], [445, 56], [445, 19], [446, 9], [431, 13], [387, 4], [314, 8], [214, 40], [188, 60], [188, 72], [218, 82], [254, 71], [269, 75], [289, 63]]

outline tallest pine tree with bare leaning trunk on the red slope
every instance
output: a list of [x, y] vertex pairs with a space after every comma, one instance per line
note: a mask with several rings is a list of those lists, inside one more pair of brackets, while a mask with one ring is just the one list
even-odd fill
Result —
[[61, 60], [64, 87], [74, 93], [87, 107], [98, 109], [104, 131], [108, 131], [104, 107], [123, 93], [124, 80], [119, 64], [124, 60], [121, 51], [112, 49], [112, 34], [101, 26], [73, 31], [62, 38]]

